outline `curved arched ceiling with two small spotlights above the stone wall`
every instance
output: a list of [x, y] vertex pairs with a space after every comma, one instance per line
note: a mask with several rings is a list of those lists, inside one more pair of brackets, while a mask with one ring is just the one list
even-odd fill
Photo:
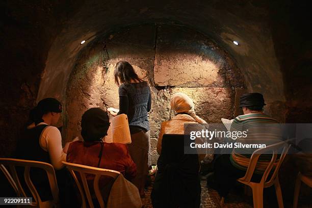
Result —
[[[49, 49], [37, 99], [65, 99], [70, 72], [87, 44], [128, 25], [157, 22], [185, 25], [205, 34], [236, 60], [250, 92], [262, 92], [268, 103], [284, 101], [266, 1], [254, 2], [86, 1]], [[87, 41], [81, 45], [82, 40]]]

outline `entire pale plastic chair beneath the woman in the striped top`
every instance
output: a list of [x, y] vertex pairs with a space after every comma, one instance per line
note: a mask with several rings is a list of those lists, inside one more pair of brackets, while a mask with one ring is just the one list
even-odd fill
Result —
[[[249, 186], [252, 189], [252, 197], [253, 197], [253, 207], [254, 208], [262, 208], [263, 207], [263, 189], [271, 187], [274, 185], [275, 193], [278, 201], [278, 207], [282, 208], [283, 205], [283, 197], [279, 185], [278, 180], [278, 170], [287, 154], [291, 145], [287, 144], [286, 141], [279, 142], [276, 144], [269, 145], [265, 148], [255, 150], [250, 158], [249, 165], [244, 177], [237, 179], [242, 184]], [[268, 163], [268, 166], [263, 173], [262, 179], [259, 183], [251, 182], [251, 177], [255, 171], [258, 159], [261, 154], [272, 154], [271, 161]], [[278, 154], [280, 154], [279, 159], [277, 159]], [[277, 162], [276, 166], [274, 163]], [[270, 178], [268, 178], [271, 170], [275, 168], [273, 174]], [[224, 198], [221, 199], [221, 205], [224, 203]]]

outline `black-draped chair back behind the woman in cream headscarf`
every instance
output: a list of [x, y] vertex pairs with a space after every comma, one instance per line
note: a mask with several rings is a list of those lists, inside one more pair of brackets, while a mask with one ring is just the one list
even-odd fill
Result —
[[[190, 139], [165, 134], [158, 159], [152, 201], [163, 207], [196, 207], [200, 204], [200, 163], [198, 154], [186, 153]], [[170, 181], [170, 183], [168, 183]], [[157, 202], [157, 203], [158, 203]]]

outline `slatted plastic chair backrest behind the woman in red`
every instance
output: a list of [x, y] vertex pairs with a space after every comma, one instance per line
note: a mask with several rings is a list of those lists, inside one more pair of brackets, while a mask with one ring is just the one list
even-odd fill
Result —
[[[86, 166], [86, 165], [79, 165], [79, 164], [74, 164], [74, 163], [68, 163], [68, 162], [63, 162], [69, 172], [71, 173], [72, 177], [74, 178], [76, 185], [79, 189], [80, 195], [82, 197], [82, 205], [83, 207], [87, 207], [86, 204], [86, 197], [88, 200], [88, 204], [90, 207], [94, 207], [92, 197], [90, 194], [90, 190], [88, 187], [87, 179], [86, 179], [86, 174], [93, 174], [94, 181], [93, 181], [93, 189], [95, 196], [98, 200], [98, 203], [100, 207], [105, 207], [105, 202], [103, 200], [103, 196], [101, 194], [100, 188], [99, 188], [99, 179], [100, 176], [110, 176], [114, 180], [118, 177], [120, 172], [115, 171], [115, 170], [109, 170], [109, 169], [103, 169], [103, 168], [95, 168], [91, 166]], [[76, 173], [79, 174], [81, 181], [78, 179]], [[82, 183], [82, 185], [81, 185]], [[85, 197], [86, 196], [86, 197]]]

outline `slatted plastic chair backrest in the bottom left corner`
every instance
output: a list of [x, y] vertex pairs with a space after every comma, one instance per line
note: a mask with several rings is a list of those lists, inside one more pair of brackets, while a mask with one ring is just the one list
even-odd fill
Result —
[[[10, 172], [6, 167], [9, 167]], [[51, 204], [56, 205], [59, 202], [59, 188], [57, 185], [57, 179], [55, 176], [54, 168], [51, 164], [43, 163], [39, 161], [29, 161], [29, 160], [19, 160], [12, 158], [0, 158], [0, 169], [9, 180], [9, 183], [13, 187], [18, 197], [27, 197], [24, 188], [22, 187], [19, 179], [19, 174], [17, 174], [16, 167], [24, 167], [23, 176], [25, 183], [33, 195], [32, 205], [42, 207], [44, 204], [38, 194], [36, 187], [31, 180], [30, 170], [31, 168], [40, 168], [44, 170], [47, 174], [48, 182], [50, 185], [51, 193], [53, 195], [53, 200]]]

